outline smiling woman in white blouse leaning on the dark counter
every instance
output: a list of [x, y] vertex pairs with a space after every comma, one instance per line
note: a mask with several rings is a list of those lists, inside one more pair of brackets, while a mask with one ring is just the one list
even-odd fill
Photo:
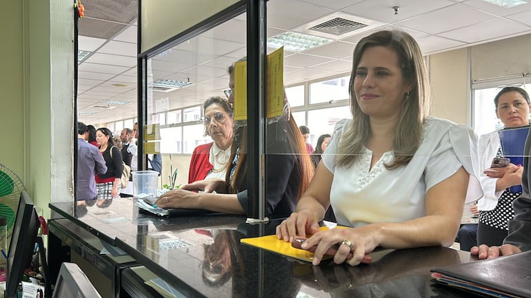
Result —
[[[352, 266], [377, 246], [450, 246], [469, 179], [477, 177], [470, 158], [474, 132], [428, 116], [428, 76], [409, 34], [370, 34], [357, 43], [352, 61], [352, 120], [337, 125], [297, 212], [277, 226], [277, 237], [314, 234], [303, 244], [317, 246], [313, 264], [334, 244], [340, 244], [334, 262]], [[330, 203], [337, 223], [352, 228], [319, 231]]]

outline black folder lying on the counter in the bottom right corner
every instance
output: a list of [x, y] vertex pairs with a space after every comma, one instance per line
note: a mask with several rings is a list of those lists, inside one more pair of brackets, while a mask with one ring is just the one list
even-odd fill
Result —
[[531, 297], [531, 251], [432, 269], [438, 284], [492, 297]]

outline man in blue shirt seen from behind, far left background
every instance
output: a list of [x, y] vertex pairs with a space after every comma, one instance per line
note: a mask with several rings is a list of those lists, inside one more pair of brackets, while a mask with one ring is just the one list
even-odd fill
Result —
[[77, 183], [76, 200], [86, 201], [97, 198], [96, 173], [100, 175], [106, 173], [107, 166], [103, 156], [98, 149], [88, 142], [87, 126], [81, 122], [77, 123]]

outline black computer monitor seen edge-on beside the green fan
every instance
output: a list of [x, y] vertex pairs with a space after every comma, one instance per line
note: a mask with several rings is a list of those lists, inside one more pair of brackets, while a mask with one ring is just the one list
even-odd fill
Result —
[[6, 298], [17, 298], [17, 288], [24, 270], [31, 264], [39, 226], [33, 200], [26, 191], [22, 191], [8, 252], [8, 278], [4, 292]]

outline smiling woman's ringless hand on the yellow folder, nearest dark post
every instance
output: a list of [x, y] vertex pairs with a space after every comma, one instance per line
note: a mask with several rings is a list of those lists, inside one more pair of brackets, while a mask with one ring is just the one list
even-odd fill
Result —
[[319, 222], [305, 211], [291, 213], [287, 220], [277, 226], [277, 238], [292, 242], [294, 237], [306, 237], [306, 233], [319, 232]]

